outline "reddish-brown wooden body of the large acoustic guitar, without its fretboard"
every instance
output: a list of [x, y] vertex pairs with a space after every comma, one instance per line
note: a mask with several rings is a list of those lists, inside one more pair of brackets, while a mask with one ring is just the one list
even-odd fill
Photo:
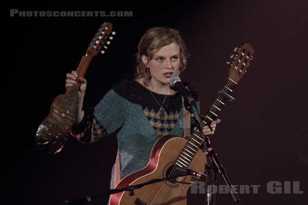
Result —
[[[115, 189], [127, 187], [129, 185], [138, 185], [154, 178], [168, 177], [168, 174], [175, 165], [176, 160], [187, 144], [187, 140], [172, 135], [161, 137], [153, 146], [148, 165], [137, 172], [133, 172], [124, 177]], [[204, 173], [206, 156], [198, 149], [194, 158], [192, 158], [188, 168], [197, 172]], [[198, 177], [185, 176], [177, 178], [178, 181], [196, 181]], [[163, 186], [163, 188], [162, 188]], [[130, 196], [128, 192], [112, 194], [110, 205], [133, 205], [133, 204], [172, 204], [185, 205], [187, 190], [191, 185], [162, 181], [146, 185], [140, 189], [134, 190], [134, 195]]]

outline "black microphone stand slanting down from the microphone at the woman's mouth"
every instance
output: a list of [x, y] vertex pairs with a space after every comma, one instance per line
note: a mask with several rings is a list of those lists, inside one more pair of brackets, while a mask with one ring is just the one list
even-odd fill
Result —
[[[217, 154], [216, 154], [215, 150], [211, 147], [208, 136], [204, 137], [203, 129], [200, 126], [200, 122], [199, 122], [198, 119], [196, 119], [196, 116], [195, 116], [194, 112], [192, 111], [192, 108], [189, 105], [188, 101], [184, 100], [184, 106], [185, 106], [186, 110], [188, 110], [190, 112], [190, 116], [192, 117], [192, 119], [195, 120], [195, 126], [197, 127], [197, 129], [201, 133], [201, 136], [203, 138], [202, 149], [203, 149], [203, 151], [205, 151], [205, 155], [210, 159], [209, 161], [211, 162], [211, 166], [212, 166], [211, 171], [214, 171], [215, 181], [216, 181], [216, 172], [218, 171], [219, 174], [224, 179], [224, 181], [225, 181], [225, 183], [226, 183], [226, 185], [228, 187], [228, 190], [229, 190], [233, 200], [235, 202], [239, 202], [240, 198], [239, 198], [238, 194], [236, 193], [233, 185], [231, 184], [230, 180], [228, 179], [228, 177], [226, 175], [225, 169], [223, 168], [223, 166], [221, 165], [220, 161], [218, 160], [218, 157], [217, 157]], [[198, 110], [197, 107], [196, 107], [196, 109], [197, 109], [199, 117], [200, 117], [199, 110]], [[206, 167], [206, 165], [205, 165], [205, 167]], [[207, 188], [206, 188], [206, 190], [207, 190]], [[210, 193], [209, 196], [211, 196], [211, 193]], [[214, 200], [214, 202], [215, 202], [215, 200]], [[208, 204], [209, 204], [209, 200], [208, 200]]]

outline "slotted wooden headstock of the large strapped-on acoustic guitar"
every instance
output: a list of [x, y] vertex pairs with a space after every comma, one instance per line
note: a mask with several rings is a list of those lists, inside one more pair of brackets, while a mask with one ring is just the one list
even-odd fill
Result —
[[240, 81], [243, 75], [247, 72], [250, 61], [253, 60], [254, 49], [250, 44], [243, 44], [240, 48], [234, 49], [235, 54], [232, 54], [230, 58], [233, 59], [230, 64], [228, 77], [234, 80], [236, 83]]

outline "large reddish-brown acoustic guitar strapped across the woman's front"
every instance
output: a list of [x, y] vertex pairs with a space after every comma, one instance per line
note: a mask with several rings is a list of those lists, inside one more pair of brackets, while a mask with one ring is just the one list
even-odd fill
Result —
[[[232, 93], [243, 77], [249, 62], [253, 59], [254, 50], [251, 45], [243, 44], [235, 48], [235, 54], [230, 56], [228, 79], [218, 97], [210, 107], [202, 121], [202, 127], [209, 125], [218, 117], [227, 101], [232, 101]], [[177, 167], [188, 168], [204, 173], [206, 156], [200, 150], [203, 138], [198, 130], [188, 140], [173, 135], [165, 135], [157, 140], [152, 148], [148, 165], [136, 172], [124, 177], [115, 189], [121, 189], [130, 185], [139, 185], [155, 178], [165, 178], [180, 174]], [[178, 177], [177, 181], [191, 182], [198, 180], [195, 176]], [[134, 190], [134, 195], [129, 192], [112, 194], [110, 205], [185, 205], [187, 191], [191, 185], [174, 181], [162, 181], [152, 183]]]

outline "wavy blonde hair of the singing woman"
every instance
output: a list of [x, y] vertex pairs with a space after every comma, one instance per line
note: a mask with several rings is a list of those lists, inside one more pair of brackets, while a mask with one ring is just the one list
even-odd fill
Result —
[[148, 86], [151, 75], [149, 71], [147, 71], [141, 56], [145, 55], [148, 60], [151, 60], [162, 47], [172, 43], [177, 43], [180, 46], [179, 70], [182, 72], [187, 66], [189, 53], [180, 32], [168, 27], [153, 27], [148, 29], [140, 39], [138, 53], [136, 54], [137, 65], [134, 75], [135, 79], [144, 78], [143, 84]]

